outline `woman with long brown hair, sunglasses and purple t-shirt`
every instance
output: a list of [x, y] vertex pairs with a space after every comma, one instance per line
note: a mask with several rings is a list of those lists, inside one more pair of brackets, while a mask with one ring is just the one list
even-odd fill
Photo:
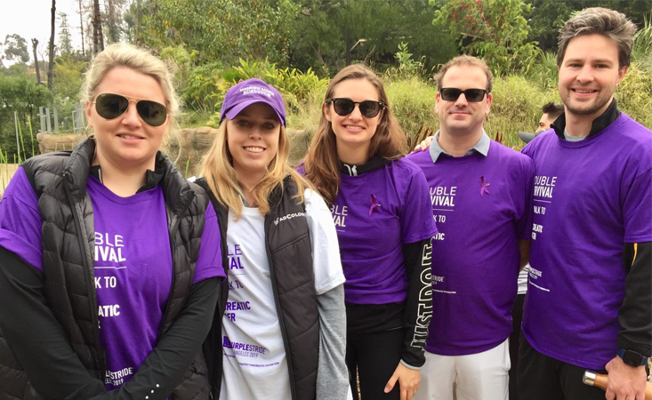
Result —
[[[411, 399], [431, 320], [432, 220], [423, 172], [402, 158], [406, 137], [370, 69], [342, 69], [302, 169], [337, 229], [350, 385], [363, 399]], [[398, 385], [397, 385], [398, 383]]]

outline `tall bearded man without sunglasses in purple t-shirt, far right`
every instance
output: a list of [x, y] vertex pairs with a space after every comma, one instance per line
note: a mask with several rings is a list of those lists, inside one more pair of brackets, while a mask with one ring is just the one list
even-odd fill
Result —
[[[519, 398], [642, 400], [652, 355], [652, 132], [614, 92], [636, 26], [587, 8], [559, 32], [564, 113], [523, 153], [535, 162]], [[608, 372], [606, 393], [582, 383]]]

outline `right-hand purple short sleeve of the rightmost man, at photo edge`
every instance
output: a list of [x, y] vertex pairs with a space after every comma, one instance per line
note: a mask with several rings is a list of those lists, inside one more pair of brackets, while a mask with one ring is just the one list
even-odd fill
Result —
[[652, 242], [652, 169], [623, 182], [624, 242]]

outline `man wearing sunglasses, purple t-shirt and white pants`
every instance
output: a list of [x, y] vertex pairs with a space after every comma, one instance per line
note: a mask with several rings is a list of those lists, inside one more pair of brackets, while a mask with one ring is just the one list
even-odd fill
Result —
[[432, 244], [433, 324], [415, 399], [450, 399], [455, 383], [458, 400], [506, 400], [534, 164], [482, 127], [493, 84], [483, 60], [456, 57], [435, 79], [439, 131], [428, 151], [408, 156], [428, 180], [439, 230]]

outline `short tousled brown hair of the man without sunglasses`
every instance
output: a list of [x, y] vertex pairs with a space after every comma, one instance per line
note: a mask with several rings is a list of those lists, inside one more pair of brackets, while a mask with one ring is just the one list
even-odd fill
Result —
[[632, 57], [632, 45], [636, 25], [622, 12], [609, 10], [608, 8], [592, 7], [570, 20], [567, 20], [564, 28], [559, 31], [559, 52], [557, 52], [557, 66], [564, 60], [566, 49], [571, 40], [577, 36], [598, 34], [607, 36], [616, 42], [618, 47], [618, 66], [628, 67]]

